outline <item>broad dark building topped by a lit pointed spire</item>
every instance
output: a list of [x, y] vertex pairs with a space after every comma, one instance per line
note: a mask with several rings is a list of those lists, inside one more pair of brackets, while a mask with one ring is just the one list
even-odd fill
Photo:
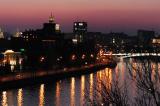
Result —
[[53, 40], [60, 37], [60, 25], [55, 22], [54, 16], [51, 14], [47, 23], [43, 24], [42, 29], [26, 30], [23, 32], [23, 38], [29, 40]]

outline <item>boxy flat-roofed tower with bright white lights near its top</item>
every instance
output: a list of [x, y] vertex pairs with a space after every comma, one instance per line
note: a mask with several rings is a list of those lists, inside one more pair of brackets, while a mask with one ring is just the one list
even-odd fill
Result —
[[74, 40], [77, 42], [83, 42], [87, 33], [87, 22], [74, 22], [73, 32], [75, 35]]

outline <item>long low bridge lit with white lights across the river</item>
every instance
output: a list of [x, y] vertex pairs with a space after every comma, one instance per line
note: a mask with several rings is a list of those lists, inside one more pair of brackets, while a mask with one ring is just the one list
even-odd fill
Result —
[[142, 56], [160, 56], [160, 53], [104, 53], [104, 56], [119, 56], [123, 58], [142, 57]]

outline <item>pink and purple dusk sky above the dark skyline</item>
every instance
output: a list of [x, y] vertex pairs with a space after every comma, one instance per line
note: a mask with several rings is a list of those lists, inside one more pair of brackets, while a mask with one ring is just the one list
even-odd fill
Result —
[[0, 27], [39, 29], [51, 12], [62, 32], [72, 32], [74, 21], [88, 22], [89, 31], [160, 32], [160, 0], [0, 0]]

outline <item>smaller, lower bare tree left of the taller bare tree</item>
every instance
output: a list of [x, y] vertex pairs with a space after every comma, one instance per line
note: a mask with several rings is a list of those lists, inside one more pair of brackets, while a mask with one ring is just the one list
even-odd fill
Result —
[[[118, 80], [109, 81], [105, 75], [103, 80], [97, 81], [94, 85], [93, 98], [87, 97], [88, 105], [92, 106], [128, 106], [129, 98], [127, 87], [121, 86]], [[88, 91], [88, 90], [87, 90]], [[89, 91], [88, 91], [89, 92]]]

